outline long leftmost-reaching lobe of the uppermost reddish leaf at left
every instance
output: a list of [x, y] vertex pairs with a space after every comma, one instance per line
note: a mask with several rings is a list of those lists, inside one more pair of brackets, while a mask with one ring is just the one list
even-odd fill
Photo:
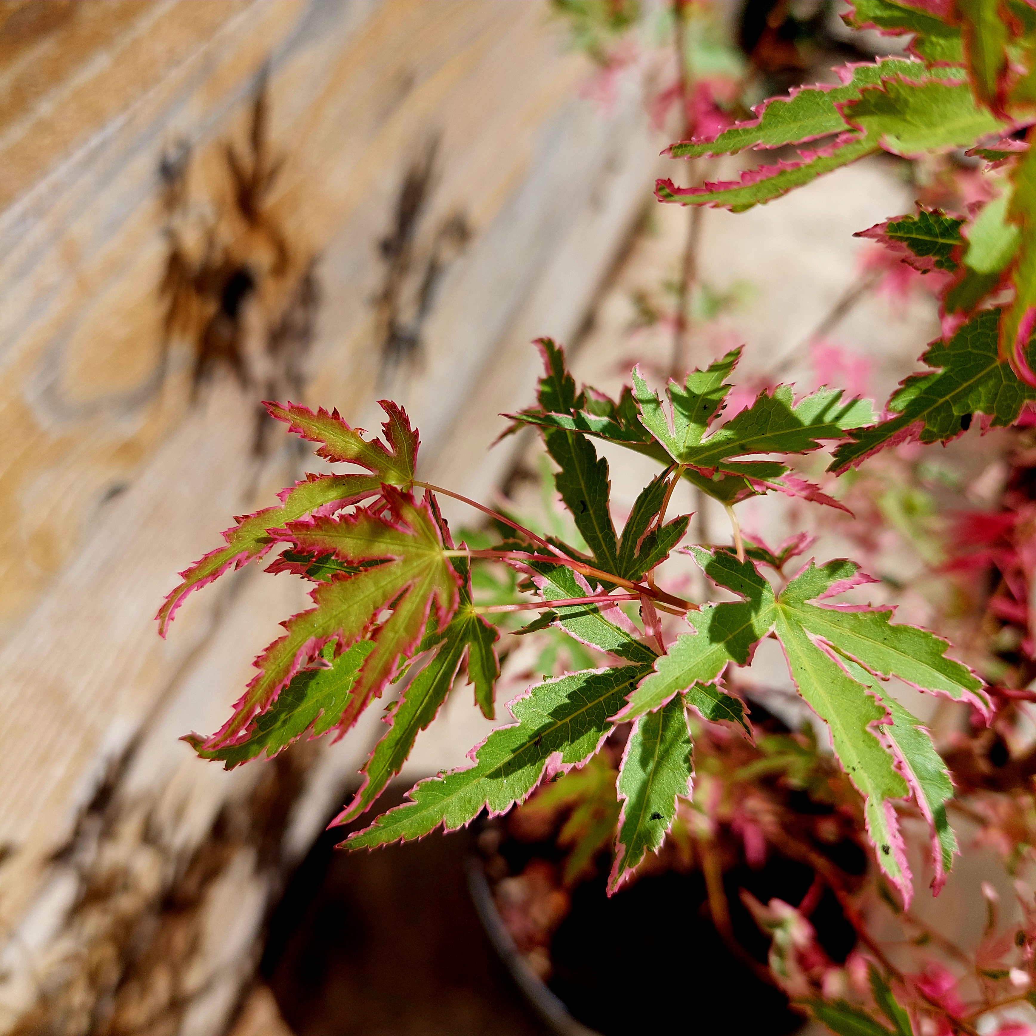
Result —
[[369, 474], [310, 474], [282, 490], [278, 494], [280, 507], [265, 508], [237, 519], [237, 524], [223, 534], [226, 547], [210, 551], [180, 573], [183, 581], [170, 592], [155, 616], [159, 632], [166, 635], [176, 609], [193, 591], [212, 582], [224, 572], [262, 557], [275, 543], [283, 540], [278, 530], [287, 522], [314, 512], [330, 513], [380, 491], [380, 481]]

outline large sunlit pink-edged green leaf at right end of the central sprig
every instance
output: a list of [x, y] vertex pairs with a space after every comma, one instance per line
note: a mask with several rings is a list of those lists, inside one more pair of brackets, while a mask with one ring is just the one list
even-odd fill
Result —
[[[754, 645], [772, 630], [799, 693], [828, 724], [835, 754], [864, 797], [867, 829], [881, 866], [909, 899], [910, 873], [891, 804], [906, 798], [911, 788], [874, 730], [885, 720], [886, 709], [868, 693], [873, 686], [870, 674], [897, 677], [920, 690], [969, 701], [988, 715], [981, 681], [959, 662], [946, 658], [945, 640], [916, 627], [892, 625], [891, 609], [843, 610], [810, 603], [862, 581], [852, 562], [821, 567], [810, 563], [775, 595], [751, 560], [738, 562], [726, 551], [691, 548], [690, 552], [714, 582], [743, 600], [708, 605], [692, 613], [689, 620], [696, 632], [679, 636], [657, 660], [621, 718], [659, 709], [685, 688], [714, 684], [727, 665], [746, 664]], [[866, 670], [865, 681], [854, 679], [853, 664]], [[904, 744], [910, 743], [917, 769], [930, 768], [932, 756], [924, 756], [917, 746], [927, 735], [913, 724], [899, 732], [904, 735]]]

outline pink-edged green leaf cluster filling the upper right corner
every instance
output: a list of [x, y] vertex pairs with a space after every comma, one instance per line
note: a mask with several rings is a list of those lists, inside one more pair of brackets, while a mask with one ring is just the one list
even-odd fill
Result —
[[[941, 372], [908, 379], [889, 400], [886, 420], [854, 431], [858, 444], [839, 450], [840, 469], [911, 439], [946, 442], [976, 415], [983, 430], [1011, 424], [1018, 400], [1030, 399], [1036, 385], [1029, 364], [1036, 330], [1033, 131], [1021, 139], [1036, 119], [1032, 6], [856, 0], [845, 20], [908, 37], [908, 57], [847, 64], [835, 69], [833, 86], [797, 87], [764, 102], [751, 120], [673, 144], [673, 157], [751, 150], [762, 164], [735, 181], [685, 189], [664, 179], [657, 188], [662, 201], [741, 211], [879, 150], [914, 157], [968, 148], [990, 170], [1004, 170], [994, 197], [968, 212], [919, 206], [860, 233], [922, 274], [938, 275], [947, 337], [923, 357]], [[788, 146], [799, 148], [798, 159], [767, 164], [765, 152]], [[992, 308], [998, 301], [1001, 308]], [[990, 321], [992, 362], [1010, 370], [987, 364]]]

